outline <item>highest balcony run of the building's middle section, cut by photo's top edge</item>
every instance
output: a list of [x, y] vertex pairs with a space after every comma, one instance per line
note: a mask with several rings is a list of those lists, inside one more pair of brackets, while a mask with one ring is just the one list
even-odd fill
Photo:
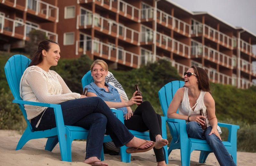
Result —
[[102, 6], [105, 9], [119, 13], [119, 15], [128, 19], [140, 22], [140, 9], [122, 0], [77, 0], [78, 4], [92, 2], [95, 2], [95, 4]]

